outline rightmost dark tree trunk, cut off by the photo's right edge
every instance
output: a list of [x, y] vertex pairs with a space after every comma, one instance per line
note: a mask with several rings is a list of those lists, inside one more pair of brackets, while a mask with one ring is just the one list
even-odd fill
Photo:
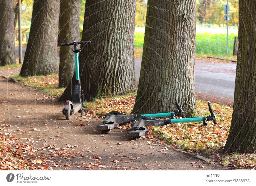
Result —
[[225, 152], [256, 150], [256, 2], [239, 1], [239, 48], [236, 65], [234, 108]]

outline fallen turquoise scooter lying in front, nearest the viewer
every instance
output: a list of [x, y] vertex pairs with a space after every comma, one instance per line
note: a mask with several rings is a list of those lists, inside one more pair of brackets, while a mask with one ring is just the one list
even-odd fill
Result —
[[213, 113], [212, 106], [208, 101], [208, 107], [211, 115], [206, 117], [192, 117], [192, 118], [182, 118], [182, 119], [141, 119], [140, 121], [132, 122], [132, 131], [128, 131], [128, 136], [131, 138], [140, 138], [142, 136], [146, 136], [150, 134], [150, 131], [145, 127], [148, 126], [164, 126], [166, 124], [172, 123], [188, 123], [188, 122], [203, 122], [204, 126], [207, 126], [207, 121], [213, 121], [214, 124], [216, 122], [216, 116]]

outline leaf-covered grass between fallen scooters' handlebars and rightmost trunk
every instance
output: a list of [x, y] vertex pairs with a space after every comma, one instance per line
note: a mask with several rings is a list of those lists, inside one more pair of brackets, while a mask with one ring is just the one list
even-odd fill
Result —
[[[207, 102], [196, 100], [198, 116], [209, 115]], [[228, 137], [231, 122], [232, 108], [224, 105], [212, 104], [217, 117], [217, 125], [208, 122], [204, 127], [202, 122], [198, 123], [173, 123], [159, 127], [159, 132], [165, 132], [165, 141], [170, 144], [169, 138], [176, 147], [190, 149], [193, 151], [212, 152], [223, 147]], [[157, 136], [155, 131], [153, 136]]]

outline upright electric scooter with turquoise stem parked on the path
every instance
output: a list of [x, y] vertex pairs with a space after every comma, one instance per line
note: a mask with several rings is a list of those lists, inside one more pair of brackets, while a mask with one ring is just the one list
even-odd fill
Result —
[[74, 45], [72, 50], [75, 53], [75, 72], [76, 72], [76, 83], [74, 88], [74, 93], [72, 97], [72, 102], [67, 100], [65, 108], [63, 108], [62, 113], [66, 116], [66, 119], [69, 120], [71, 115], [76, 114], [77, 112], [82, 114], [82, 108], [84, 106], [84, 91], [81, 90], [80, 86], [80, 77], [79, 77], [79, 63], [78, 63], [78, 52], [82, 49], [78, 49], [78, 45], [91, 43], [91, 41], [74, 41], [72, 43], [62, 43], [60, 46], [69, 46]]

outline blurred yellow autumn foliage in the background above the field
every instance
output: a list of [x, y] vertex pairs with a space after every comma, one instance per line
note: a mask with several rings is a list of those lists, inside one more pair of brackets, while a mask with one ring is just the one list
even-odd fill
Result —
[[[16, 0], [17, 1], [17, 0]], [[227, 0], [196, 0], [198, 24], [212, 24], [223, 26], [224, 4]], [[238, 26], [238, 0], [229, 1], [230, 26]], [[31, 22], [33, 0], [22, 1], [22, 26], [29, 26]], [[85, 0], [80, 0], [80, 25], [84, 22]], [[147, 0], [136, 1], [135, 26], [143, 27], [146, 22]]]

